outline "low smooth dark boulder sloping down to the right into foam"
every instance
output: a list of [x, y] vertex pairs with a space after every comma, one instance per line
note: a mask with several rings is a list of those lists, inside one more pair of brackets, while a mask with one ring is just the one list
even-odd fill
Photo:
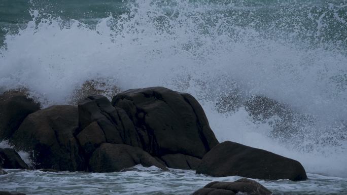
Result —
[[196, 173], [257, 179], [307, 179], [302, 165], [272, 152], [225, 141], [206, 153]]

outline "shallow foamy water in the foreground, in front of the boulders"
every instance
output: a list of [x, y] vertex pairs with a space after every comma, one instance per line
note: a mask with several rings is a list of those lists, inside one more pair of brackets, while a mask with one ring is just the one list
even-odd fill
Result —
[[[346, 194], [346, 178], [308, 174], [307, 181], [263, 181], [262, 185], [274, 194]], [[212, 181], [234, 181], [241, 177], [206, 177], [195, 171], [136, 166], [131, 171], [116, 173], [71, 173], [11, 170], [0, 176], [5, 186], [0, 190], [13, 190], [27, 194], [172, 194], [187, 195]]]

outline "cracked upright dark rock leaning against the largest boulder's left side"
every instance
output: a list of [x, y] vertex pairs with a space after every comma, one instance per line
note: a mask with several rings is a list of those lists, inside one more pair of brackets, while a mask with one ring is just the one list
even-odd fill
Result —
[[79, 127], [84, 129], [93, 122], [105, 134], [108, 143], [141, 146], [135, 127], [125, 111], [113, 107], [105, 96], [89, 96], [78, 104]]

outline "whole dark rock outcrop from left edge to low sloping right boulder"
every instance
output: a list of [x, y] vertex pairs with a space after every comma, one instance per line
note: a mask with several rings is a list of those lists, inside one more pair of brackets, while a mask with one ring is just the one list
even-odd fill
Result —
[[113, 172], [142, 164], [217, 177], [307, 178], [294, 160], [233, 142], [219, 144], [197, 100], [163, 87], [128, 90], [112, 103], [105, 96], [88, 96], [78, 107], [38, 110], [26, 97], [4, 102], [15, 106], [13, 112], [4, 107], [13, 120], [0, 115], [0, 127], [10, 126], [3, 135], [30, 153], [36, 169]]

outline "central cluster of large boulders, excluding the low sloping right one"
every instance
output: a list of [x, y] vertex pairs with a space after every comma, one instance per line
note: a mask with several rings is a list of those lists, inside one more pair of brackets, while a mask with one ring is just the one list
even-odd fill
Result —
[[[10, 141], [30, 152], [36, 169], [98, 172], [119, 171], [134, 162], [196, 169], [203, 155], [218, 144], [198, 102], [189, 94], [161, 87], [126, 91], [112, 104], [105, 96], [94, 95], [80, 101], [78, 108], [56, 105], [36, 111]], [[107, 168], [98, 155], [110, 156], [120, 147], [127, 149], [123, 160], [132, 163]]]

